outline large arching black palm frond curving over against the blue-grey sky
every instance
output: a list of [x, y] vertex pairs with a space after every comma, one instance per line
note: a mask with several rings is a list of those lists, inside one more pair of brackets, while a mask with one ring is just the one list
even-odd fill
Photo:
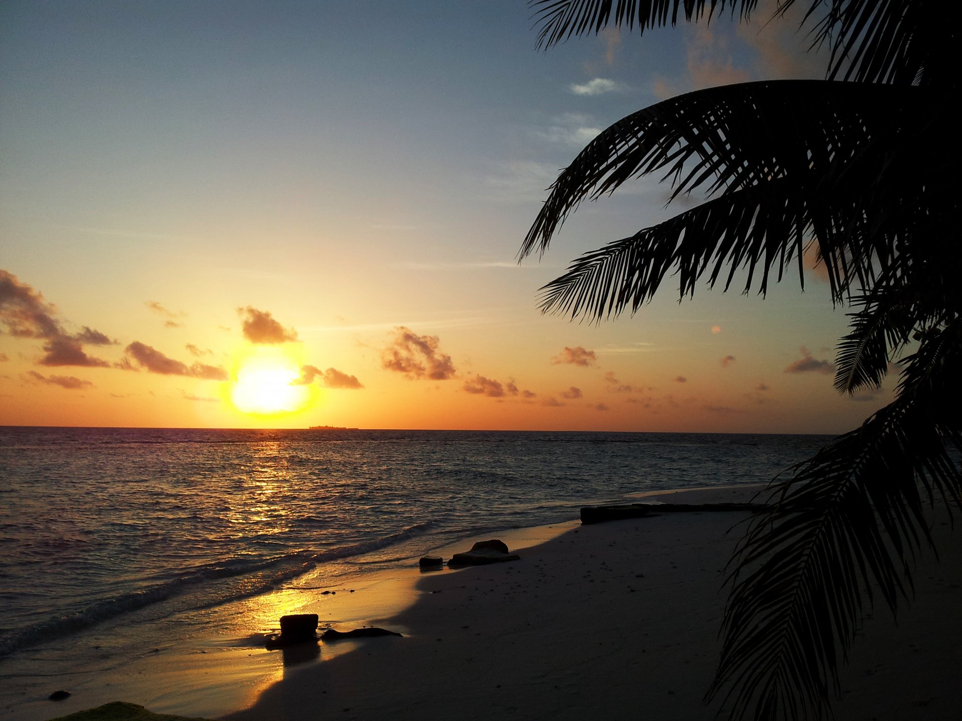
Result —
[[[734, 194], [744, 190], [778, 197], [797, 223], [768, 231], [788, 229], [797, 243], [798, 233], [811, 230], [819, 238], [833, 294], [841, 298], [847, 279], [864, 283], [873, 261], [889, 261], [892, 236], [914, 222], [904, 216], [905, 209], [925, 211], [920, 203], [923, 181], [915, 173], [901, 173], [898, 183], [883, 186], [884, 202], [871, 194], [879, 173], [891, 162], [895, 140], [918, 135], [918, 129], [906, 123], [908, 109], [929, 102], [921, 88], [777, 81], [699, 90], [658, 103], [603, 131], [561, 173], [519, 257], [536, 248], [544, 252], [586, 198], [594, 200], [630, 178], [660, 171], [672, 179], [672, 198], [698, 189], [709, 197], [731, 198], [733, 204]], [[780, 196], [755, 189], [775, 184], [781, 187]], [[805, 212], [798, 210], [802, 206]], [[872, 215], [873, 232], [866, 225], [867, 206], [880, 209]], [[744, 219], [735, 208], [731, 215], [739, 222]], [[683, 220], [660, 228], [685, 225]], [[626, 240], [616, 244], [623, 248]], [[788, 239], [776, 242], [784, 247]], [[595, 255], [582, 259], [577, 272], [597, 260]], [[748, 267], [749, 275], [752, 269]], [[570, 280], [570, 274], [566, 278]], [[553, 293], [561, 280], [546, 289]]]

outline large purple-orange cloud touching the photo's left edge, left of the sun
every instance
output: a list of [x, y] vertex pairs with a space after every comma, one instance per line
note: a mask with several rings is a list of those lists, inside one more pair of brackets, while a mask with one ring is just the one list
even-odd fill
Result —
[[57, 309], [32, 286], [20, 283], [6, 270], [0, 270], [0, 323], [11, 336], [46, 340], [41, 365], [110, 365], [106, 360], [88, 356], [83, 349], [85, 343], [108, 345], [113, 342], [109, 337], [88, 326], [79, 334], [68, 334], [57, 317]]

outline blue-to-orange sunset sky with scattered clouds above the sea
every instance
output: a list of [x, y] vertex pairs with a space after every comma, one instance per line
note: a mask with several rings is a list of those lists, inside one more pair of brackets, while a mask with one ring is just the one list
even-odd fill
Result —
[[796, 24], [575, 37], [523, 0], [0, 5], [0, 425], [841, 433], [818, 270], [634, 317], [543, 315], [663, 220], [642, 179], [516, 261], [601, 129], [821, 77]]

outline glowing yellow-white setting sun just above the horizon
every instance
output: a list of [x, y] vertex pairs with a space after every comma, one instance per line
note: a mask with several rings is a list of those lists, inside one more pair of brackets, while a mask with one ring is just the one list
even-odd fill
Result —
[[296, 360], [276, 347], [253, 348], [241, 360], [231, 400], [245, 413], [272, 415], [305, 409], [312, 400], [308, 385], [291, 385], [300, 377]]

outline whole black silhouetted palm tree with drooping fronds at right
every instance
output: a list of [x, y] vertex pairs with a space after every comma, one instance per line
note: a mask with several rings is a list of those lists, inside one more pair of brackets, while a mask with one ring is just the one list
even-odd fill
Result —
[[[776, 14], [794, 0], [780, 0]], [[835, 386], [877, 386], [908, 350], [896, 400], [772, 487], [772, 512], [733, 559], [722, 659], [709, 696], [733, 717], [821, 716], [863, 604], [893, 612], [912, 557], [930, 542], [925, 501], [957, 505], [962, 475], [962, 244], [958, 239], [955, 3], [807, 0], [824, 81], [698, 90], [622, 118], [571, 162], [520, 250], [544, 252], [571, 211], [661, 172], [671, 199], [706, 200], [587, 253], [544, 286], [544, 311], [594, 320], [638, 311], [667, 275], [764, 294], [809, 244], [832, 298], [853, 308]], [[548, 47], [609, 25], [637, 30], [757, 0], [533, 0]], [[914, 345], [913, 345], [914, 344]], [[726, 689], [726, 690], [725, 690]]]

